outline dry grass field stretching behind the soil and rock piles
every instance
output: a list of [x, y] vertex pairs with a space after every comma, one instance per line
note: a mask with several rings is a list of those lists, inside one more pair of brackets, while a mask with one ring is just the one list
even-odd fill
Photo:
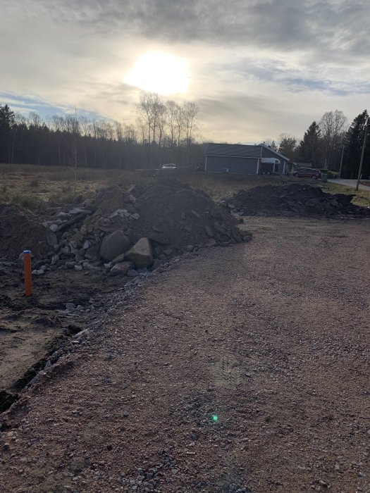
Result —
[[[283, 185], [289, 182], [306, 182], [304, 178], [235, 175], [205, 175], [204, 173], [173, 170], [164, 177], [176, 177], [194, 189], [202, 189], [215, 201], [232, 196], [240, 189], [261, 185]], [[88, 194], [101, 187], [122, 183], [123, 185], [147, 185], [158, 175], [150, 170], [105, 170], [78, 168], [77, 180], [73, 168], [56, 166], [33, 166], [0, 164], [0, 202], [11, 202], [30, 209], [42, 209], [55, 202], [69, 203], [78, 194]], [[331, 193], [353, 194], [354, 190], [335, 183], [323, 184]], [[354, 204], [370, 206], [369, 192], [359, 191]]]

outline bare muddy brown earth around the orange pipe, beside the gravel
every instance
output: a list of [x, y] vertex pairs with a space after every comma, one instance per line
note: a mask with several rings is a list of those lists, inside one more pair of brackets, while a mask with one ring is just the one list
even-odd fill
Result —
[[[100, 297], [123, 289], [127, 277], [102, 273], [54, 271], [34, 276], [32, 297], [25, 297], [23, 272], [0, 263], [0, 412], [16, 399], [50, 354], [83, 330], [94, 308], [101, 310]], [[67, 303], [81, 311], [63, 313]]]

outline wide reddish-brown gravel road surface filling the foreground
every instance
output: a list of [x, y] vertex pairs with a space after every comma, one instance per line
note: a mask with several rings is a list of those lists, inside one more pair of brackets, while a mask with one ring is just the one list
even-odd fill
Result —
[[246, 227], [24, 394], [3, 492], [370, 491], [370, 222]]

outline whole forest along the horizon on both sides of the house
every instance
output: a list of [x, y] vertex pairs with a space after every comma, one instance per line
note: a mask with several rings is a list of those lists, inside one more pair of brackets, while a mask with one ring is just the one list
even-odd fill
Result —
[[[145, 93], [137, 104], [136, 120], [119, 123], [92, 120], [77, 111], [42, 119], [27, 117], [7, 104], [0, 106], [0, 162], [84, 168], [152, 169], [165, 163], [202, 169], [206, 142], [199, 141], [199, 108], [163, 101]], [[328, 111], [312, 122], [302, 139], [282, 133], [278, 143], [266, 144], [295, 163], [338, 171], [355, 178], [369, 115], [360, 113], [351, 125], [342, 111]], [[370, 132], [369, 132], [370, 133]], [[362, 175], [370, 175], [369, 133], [365, 142]]]

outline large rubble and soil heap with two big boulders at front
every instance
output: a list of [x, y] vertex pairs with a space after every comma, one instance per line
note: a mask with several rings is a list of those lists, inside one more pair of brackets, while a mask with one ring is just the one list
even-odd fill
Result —
[[[134, 277], [201, 246], [242, 242], [236, 220], [209, 196], [168, 180], [109, 187], [78, 206], [48, 212], [42, 232], [37, 225], [43, 249], [32, 263], [35, 275], [74, 269]], [[18, 253], [28, 245], [24, 235]]]

